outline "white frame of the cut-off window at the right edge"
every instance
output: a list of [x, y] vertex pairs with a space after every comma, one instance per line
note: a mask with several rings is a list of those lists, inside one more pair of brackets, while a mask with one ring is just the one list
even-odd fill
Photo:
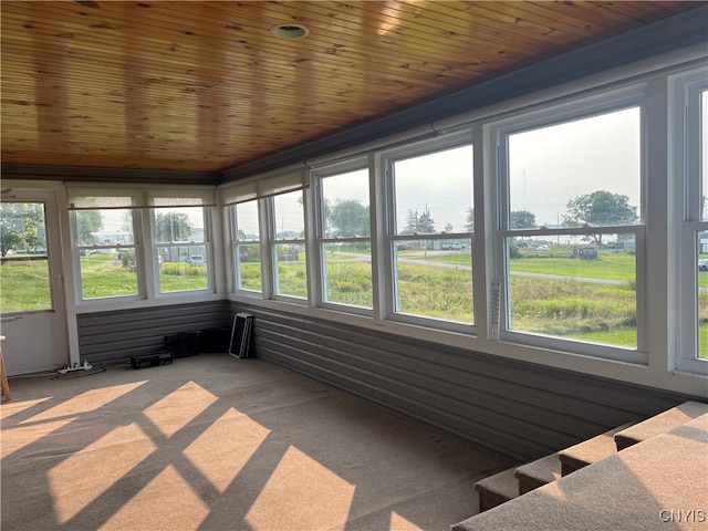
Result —
[[[677, 308], [675, 368], [699, 374], [708, 374], [708, 360], [698, 358], [698, 277], [696, 263], [697, 235], [708, 231], [708, 221], [701, 221], [704, 212], [701, 197], [708, 195], [702, 189], [702, 145], [701, 102], [700, 95], [708, 91], [708, 73], [698, 69], [677, 74], [669, 79], [669, 94], [674, 104], [674, 145], [676, 187], [679, 192], [676, 208], [678, 251], [675, 275], [675, 293], [677, 300], [671, 301]], [[669, 358], [670, 363], [670, 358]]]

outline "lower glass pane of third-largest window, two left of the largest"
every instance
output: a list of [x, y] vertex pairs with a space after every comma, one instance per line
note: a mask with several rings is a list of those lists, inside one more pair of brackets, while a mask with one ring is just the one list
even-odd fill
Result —
[[372, 246], [368, 241], [322, 246], [327, 302], [373, 308]]

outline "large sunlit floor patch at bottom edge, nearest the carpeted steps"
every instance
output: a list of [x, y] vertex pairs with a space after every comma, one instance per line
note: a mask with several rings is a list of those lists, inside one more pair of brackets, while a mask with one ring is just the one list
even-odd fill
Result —
[[246, 516], [253, 531], [344, 530], [355, 486], [294, 446]]

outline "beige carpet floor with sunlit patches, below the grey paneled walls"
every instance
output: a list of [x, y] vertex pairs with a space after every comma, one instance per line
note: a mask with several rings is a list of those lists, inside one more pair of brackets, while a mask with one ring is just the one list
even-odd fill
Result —
[[259, 360], [12, 378], [4, 530], [448, 530], [513, 462]]

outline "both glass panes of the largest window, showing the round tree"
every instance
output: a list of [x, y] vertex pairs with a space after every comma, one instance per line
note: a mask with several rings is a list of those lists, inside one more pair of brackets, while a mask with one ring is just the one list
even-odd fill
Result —
[[500, 137], [509, 332], [636, 350], [642, 108]]

